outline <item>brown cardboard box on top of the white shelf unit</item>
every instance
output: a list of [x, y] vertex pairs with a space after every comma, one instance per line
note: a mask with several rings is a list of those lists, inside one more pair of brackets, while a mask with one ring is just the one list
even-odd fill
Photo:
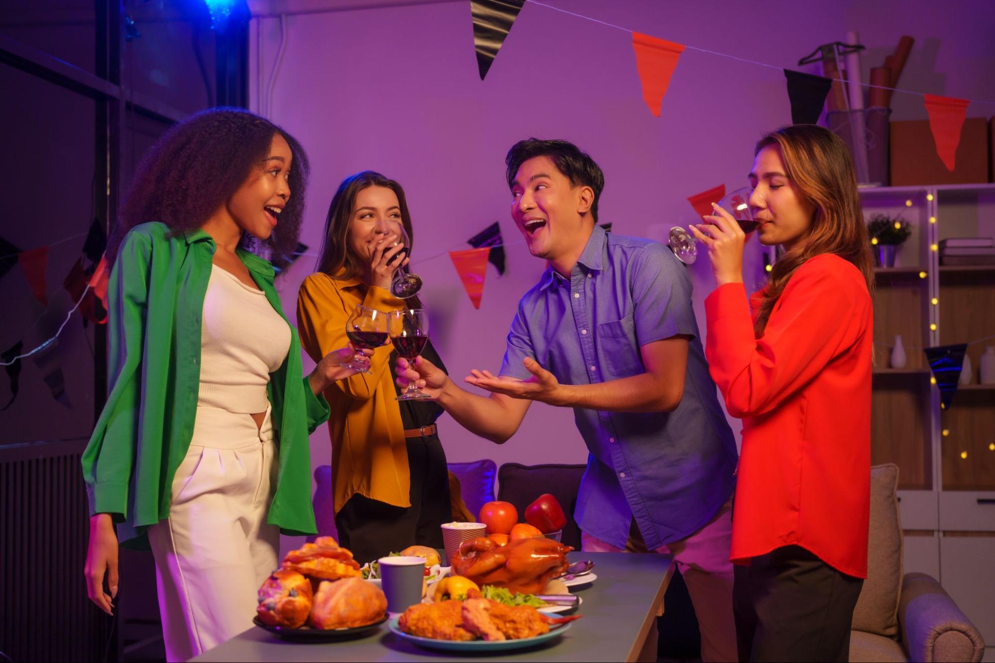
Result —
[[892, 186], [988, 182], [992, 152], [988, 124], [984, 117], [964, 120], [951, 173], [936, 154], [929, 120], [892, 122]]

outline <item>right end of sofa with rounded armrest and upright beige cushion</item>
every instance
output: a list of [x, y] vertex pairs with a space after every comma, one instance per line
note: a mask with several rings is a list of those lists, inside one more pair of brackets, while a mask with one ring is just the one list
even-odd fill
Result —
[[871, 468], [868, 580], [854, 610], [851, 661], [980, 661], [981, 633], [939, 582], [902, 573], [898, 468]]

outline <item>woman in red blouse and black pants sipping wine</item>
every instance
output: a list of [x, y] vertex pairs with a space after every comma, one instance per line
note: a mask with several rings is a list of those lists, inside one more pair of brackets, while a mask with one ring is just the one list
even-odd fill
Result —
[[732, 515], [740, 661], [847, 661], [867, 578], [874, 283], [846, 145], [800, 124], [756, 145], [757, 237], [786, 249], [749, 299], [746, 236], [715, 206], [693, 232], [718, 287], [705, 354], [743, 420]]

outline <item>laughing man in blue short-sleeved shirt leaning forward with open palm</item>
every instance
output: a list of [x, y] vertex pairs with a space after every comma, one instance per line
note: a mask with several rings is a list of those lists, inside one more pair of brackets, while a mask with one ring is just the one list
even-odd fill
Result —
[[[574, 409], [590, 451], [574, 517], [589, 551], [674, 555], [695, 603], [702, 660], [735, 660], [729, 500], [736, 448], [708, 375], [687, 269], [663, 245], [597, 225], [604, 176], [576, 146], [507, 153], [511, 216], [549, 261], [521, 298], [499, 377], [471, 394], [424, 358], [398, 361], [473, 432], [498, 443], [532, 401]], [[655, 630], [655, 629], [654, 629]]]

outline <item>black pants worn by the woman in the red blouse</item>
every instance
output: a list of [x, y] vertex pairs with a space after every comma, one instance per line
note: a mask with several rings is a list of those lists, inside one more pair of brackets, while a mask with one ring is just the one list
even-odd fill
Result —
[[850, 623], [864, 580], [799, 546], [752, 558], [734, 572], [740, 661], [850, 660]]

